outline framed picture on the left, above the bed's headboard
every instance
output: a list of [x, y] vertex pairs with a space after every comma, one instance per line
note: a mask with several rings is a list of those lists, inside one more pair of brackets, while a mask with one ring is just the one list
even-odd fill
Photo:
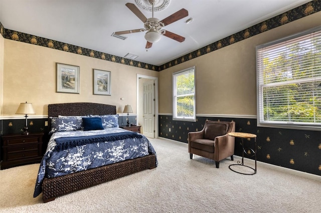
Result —
[[79, 67], [57, 63], [57, 92], [79, 94]]

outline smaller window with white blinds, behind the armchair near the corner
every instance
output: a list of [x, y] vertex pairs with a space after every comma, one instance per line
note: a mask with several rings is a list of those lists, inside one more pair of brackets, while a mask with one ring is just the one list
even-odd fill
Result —
[[173, 120], [196, 121], [195, 67], [173, 73]]

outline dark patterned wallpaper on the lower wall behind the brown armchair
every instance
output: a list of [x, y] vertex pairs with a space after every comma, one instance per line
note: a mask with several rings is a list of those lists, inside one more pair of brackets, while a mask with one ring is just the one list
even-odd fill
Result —
[[[188, 143], [188, 133], [201, 131], [206, 120], [233, 120], [236, 132], [256, 134], [258, 161], [321, 175], [321, 131], [257, 127], [256, 119], [247, 118], [197, 117], [196, 122], [186, 122], [159, 115], [158, 136]], [[254, 149], [254, 140], [244, 140], [244, 147]], [[235, 138], [235, 155], [242, 156], [241, 138]], [[187, 149], [186, 157], [189, 158]]]

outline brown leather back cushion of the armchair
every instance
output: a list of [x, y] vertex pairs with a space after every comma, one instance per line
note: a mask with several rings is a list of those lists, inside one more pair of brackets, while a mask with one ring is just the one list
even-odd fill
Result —
[[205, 127], [204, 138], [209, 140], [214, 140], [215, 137], [220, 135], [225, 135], [229, 129], [229, 123], [223, 123], [220, 121], [212, 121], [207, 123]]

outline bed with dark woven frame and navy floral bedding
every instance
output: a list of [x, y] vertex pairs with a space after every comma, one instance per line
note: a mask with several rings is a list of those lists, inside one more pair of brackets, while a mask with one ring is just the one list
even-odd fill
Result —
[[[55, 119], [64, 123], [79, 117], [86, 127], [77, 129], [79, 125], [71, 122], [75, 125], [68, 126], [70, 129], [65, 126], [62, 130], [58, 125], [58, 129], [54, 128]], [[44, 202], [52, 201], [57, 196], [157, 166], [156, 153], [145, 136], [121, 129], [117, 119], [115, 124], [115, 120], [107, 122], [106, 117], [118, 118], [116, 106], [87, 102], [48, 105], [51, 137], [40, 164], [34, 197], [42, 192]], [[99, 130], [90, 129], [97, 118], [105, 121], [103, 129], [100, 124]], [[88, 122], [90, 128], [83, 129], [88, 128]], [[74, 162], [78, 164], [72, 165]]]

